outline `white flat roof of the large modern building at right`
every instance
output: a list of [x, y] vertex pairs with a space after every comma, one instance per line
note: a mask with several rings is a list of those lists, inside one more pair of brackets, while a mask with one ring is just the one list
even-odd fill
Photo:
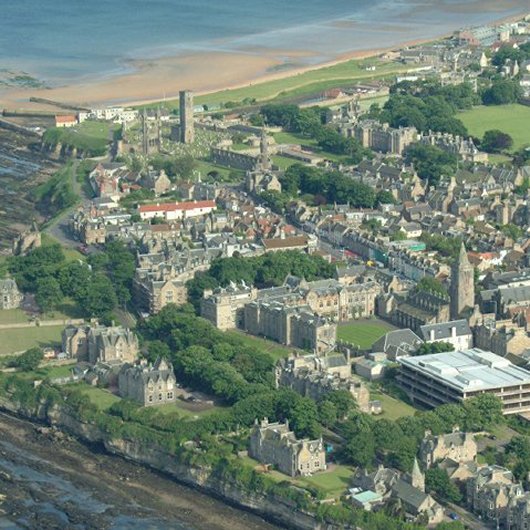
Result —
[[530, 384], [530, 372], [494, 353], [470, 350], [402, 357], [398, 362], [460, 392]]

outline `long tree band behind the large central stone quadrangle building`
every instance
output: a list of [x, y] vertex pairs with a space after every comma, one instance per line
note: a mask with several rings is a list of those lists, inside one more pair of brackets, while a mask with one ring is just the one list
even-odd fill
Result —
[[243, 258], [219, 258], [212, 262], [205, 273], [197, 273], [187, 283], [188, 298], [198, 308], [206, 289], [227, 286], [230, 282], [256, 285], [259, 288], [282, 285], [285, 278], [293, 274], [308, 281], [331, 278], [333, 266], [320, 256], [297, 251], [268, 253], [262, 256]]

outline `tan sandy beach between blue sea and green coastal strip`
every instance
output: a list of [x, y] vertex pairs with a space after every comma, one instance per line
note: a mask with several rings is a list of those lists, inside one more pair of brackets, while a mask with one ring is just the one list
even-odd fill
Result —
[[[515, 22], [521, 20], [525, 14], [498, 18], [490, 24]], [[348, 21], [345, 19], [343, 22]], [[40, 104], [29, 101], [32, 96], [84, 106], [141, 106], [163, 103], [178, 98], [179, 90], [184, 88], [192, 90], [196, 96], [249, 88], [295, 78], [356, 59], [376, 58], [389, 51], [445, 39], [450, 34], [451, 32], [445, 31], [428, 38], [403, 40], [381, 48], [352, 49], [331, 60], [305, 65], [301, 62], [317, 59], [322, 54], [314, 50], [249, 47], [240, 51], [193, 52], [154, 59], [129, 59], [126, 67], [131, 71], [128, 73], [104, 73], [94, 76], [92, 81], [83, 79], [79, 83], [53, 88], [0, 89], [0, 107], [6, 110], [42, 108]], [[401, 34], [396, 33], [396, 37], [399, 36]]]

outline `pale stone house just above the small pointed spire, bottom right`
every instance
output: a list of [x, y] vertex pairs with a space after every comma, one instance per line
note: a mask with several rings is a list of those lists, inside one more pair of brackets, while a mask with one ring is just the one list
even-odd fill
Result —
[[446, 458], [457, 463], [470, 462], [477, 456], [477, 443], [473, 433], [460, 432], [458, 428], [440, 436], [433, 436], [431, 431], [427, 431], [419, 455], [427, 469]]

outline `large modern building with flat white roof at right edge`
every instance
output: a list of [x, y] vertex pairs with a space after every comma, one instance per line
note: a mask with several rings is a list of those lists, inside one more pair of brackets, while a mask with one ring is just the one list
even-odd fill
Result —
[[400, 386], [421, 405], [436, 407], [487, 392], [502, 400], [504, 414], [530, 412], [530, 372], [494, 353], [473, 348], [398, 362]]

